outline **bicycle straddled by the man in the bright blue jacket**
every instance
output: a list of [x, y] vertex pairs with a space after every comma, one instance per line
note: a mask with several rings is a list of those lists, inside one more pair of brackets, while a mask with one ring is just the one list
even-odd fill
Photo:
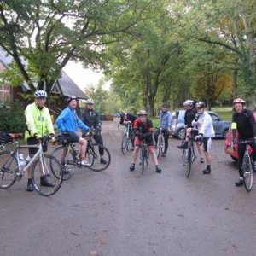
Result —
[[[86, 156], [90, 162], [88, 167], [95, 172], [102, 172], [107, 169], [111, 162], [111, 155], [108, 148], [98, 143], [92, 142], [92, 137], [97, 131], [90, 131], [85, 135], [85, 139], [88, 141]], [[64, 141], [63, 141], [64, 140]], [[63, 171], [63, 180], [71, 178], [77, 167], [82, 167], [79, 157], [79, 150], [75, 148], [75, 143], [70, 142], [70, 137], [67, 133], [64, 133], [61, 137], [58, 137], [57, 141], [61, 143], [61, 146], [55, 148], [52, 155], [58, 160], [61, 160], [61, 168]], [[107, 160], [107, 164], [101, 163], [100, 152], [104, 153], [104, 157]]]

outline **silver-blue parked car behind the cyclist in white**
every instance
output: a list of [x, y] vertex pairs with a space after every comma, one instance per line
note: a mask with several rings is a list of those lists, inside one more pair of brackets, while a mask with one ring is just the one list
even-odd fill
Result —
[[[230, 121], [224, 121], [218, 116], [217, 113], [213, 111], [207, 111], [207, 113], [209, 113], [212, 117], [215, 137], [225, 138], [227, 136], [227, 132], [229, 131]], [[171, 135], [173, 137], [177, 137], [179, 139], [184, 137], [184, 114], [184, 109], [179, 109], [172, 113]]]

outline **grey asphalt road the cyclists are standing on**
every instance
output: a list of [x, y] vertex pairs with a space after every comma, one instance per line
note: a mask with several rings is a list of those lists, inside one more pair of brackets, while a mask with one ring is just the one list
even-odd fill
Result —
[[212, 143], [210, 175], [195, 162], [187, 179], [171, 138], [163, 172], [151, 162], [142, 176], [119, 150], [122, 132], [116, 121], [103, 124], [106, 171], [78, 169], [49, 198], [26, 192], [26, 178], [0, 191], [0, 255], [256, 255], [256, 185], [235, 187], [223, 140]]

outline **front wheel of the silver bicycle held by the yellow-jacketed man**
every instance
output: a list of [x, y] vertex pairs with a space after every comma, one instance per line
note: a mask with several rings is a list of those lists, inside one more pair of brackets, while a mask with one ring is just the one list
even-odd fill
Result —
[[[45, 175], [52, 183], [52, 187], [41, 185], [42, 176]], [[63, 180], [63, 172], [59, 160], [50, 154], [43, 154], [32, 166], [32, 183], [34, 189], [43, 196], [54, 195], [60, 188]]]

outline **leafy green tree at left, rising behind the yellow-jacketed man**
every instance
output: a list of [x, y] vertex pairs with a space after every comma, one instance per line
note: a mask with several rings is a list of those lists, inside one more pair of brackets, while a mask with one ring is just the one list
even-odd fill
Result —
[[5, 0], [0, 3], [0, 45], [31, 90], [49, 92], [67, 61], [101, 63], [103, 45], [129, 32], [148, 3]]

